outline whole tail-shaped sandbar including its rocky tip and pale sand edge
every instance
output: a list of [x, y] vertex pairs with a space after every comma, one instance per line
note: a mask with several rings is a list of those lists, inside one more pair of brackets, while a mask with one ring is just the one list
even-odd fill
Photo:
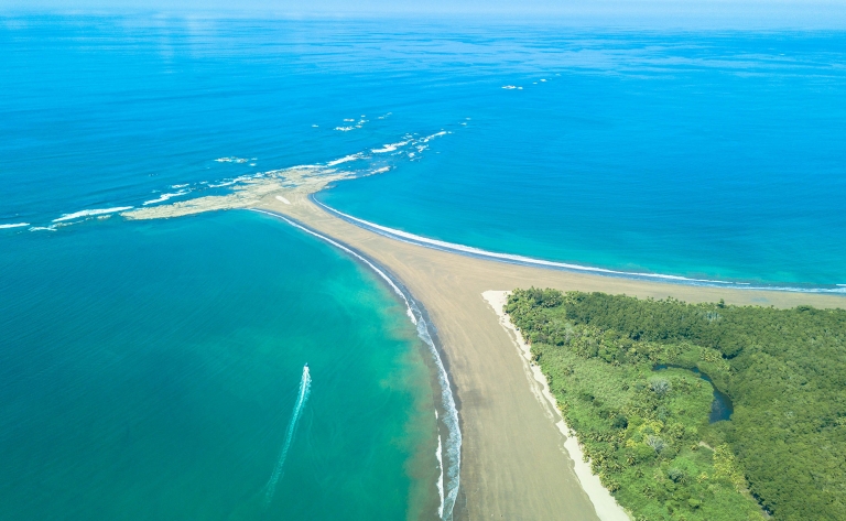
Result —
[[530, 383], [543, 382], [528, 371], [524, 357], [520, 362], [514, 358], [516, 337], [480, 297], [485, 292], [539, 286], [672, 296], [692, 303], [723, 299], [729, 304], [776, 307], [846, 305], [843, 292], [778, 291], [719, 281], [685, 283], [663, 275], [650, 279], [597, 273], [442, 245], [351, 216], [344, 218], [317, 203], [314, 193], [330, 181], [346, 177], [340, 173], [324, 175], [292, 169], [282, 177], [251, 180], [230, 196], [121, 215], [130, 219], [170, 218], [235, 208], [271, 213], [370, 264], [406, 303], [409, 299], [399, 287], [414, 295], [412, 301], [425, 308], [425, 322], [436, 330], [443, 367], [448, 368], [445, 378], [457, 404], [462, 441], [455, 520], [628, 519], [620, 517], [626, 515], [622, 509], [582, 462], [575, 436], [567, 436], [566, 426], [556, 425], [555, 408], [543, 398], [541, 388], [527, 386], [527, 378]]

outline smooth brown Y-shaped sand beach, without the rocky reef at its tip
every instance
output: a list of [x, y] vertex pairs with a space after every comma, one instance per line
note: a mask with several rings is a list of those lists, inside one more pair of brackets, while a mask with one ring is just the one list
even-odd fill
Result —
[[[687, 302], [843, 307], [836, 295], [693, 286], [517, 265], [440, 251], [354, 226], [308, 200], [305, 191], [264, 195], [256, 208], [297, 219], [349, 245], [397, 275], [437, 328], [464, 438], [457, 520], [617, 520], [621, 509], [587, 466], [521, 355], [519, 336], [492, 307], [505, 292], [542, 286], [673, 296]], [[544, 404], [544, 401], [546, 402]], [[588, 469], [589, 470], [589, 469]], [[601, 487], [599, 487], [601, 488]], [[587, 491], [586, 491], [587, 490]], [[589, 493], [588, 493], [589, 492]]]

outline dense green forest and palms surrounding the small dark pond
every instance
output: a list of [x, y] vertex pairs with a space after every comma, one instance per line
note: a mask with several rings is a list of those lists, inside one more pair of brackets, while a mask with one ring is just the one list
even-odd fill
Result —
[[636, 519], [846, 519], [846, 311], [535, 289], [506, 311]]

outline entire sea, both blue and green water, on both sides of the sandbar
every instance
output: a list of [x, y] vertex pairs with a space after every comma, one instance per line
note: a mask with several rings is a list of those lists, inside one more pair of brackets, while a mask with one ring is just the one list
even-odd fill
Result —
[[0, 48], [9, 519], [442, 508], [378, 274], [270, 216], [120, 209], [317, 164], [359, 177], [319, 202], [431, 239], [846, 293], [846, 33], [19, 14]]

